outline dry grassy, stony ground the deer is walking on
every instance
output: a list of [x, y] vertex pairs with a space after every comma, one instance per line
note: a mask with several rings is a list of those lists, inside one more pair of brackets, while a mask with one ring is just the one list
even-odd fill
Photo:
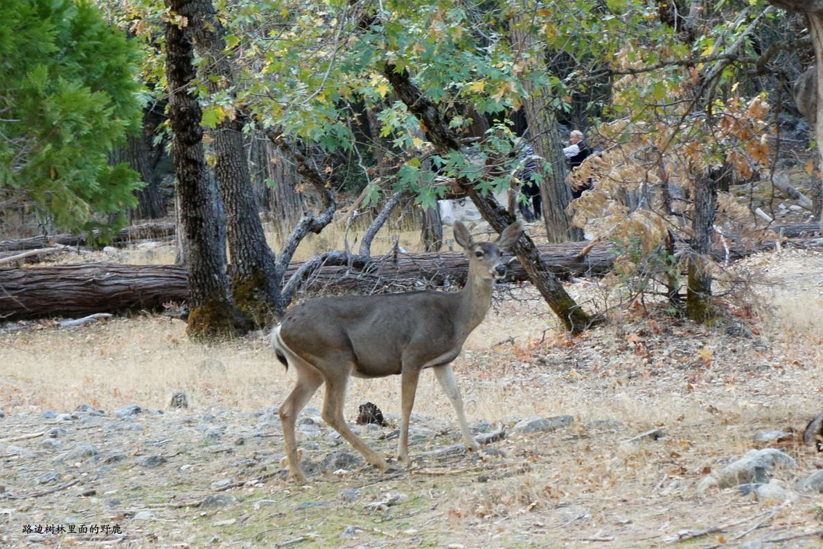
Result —
[[[424, 375], [412, 468], [381, 474], [319, 418], [320, 390], [300, 420], [304, 486], [281, 468], [294, 374], [265, 337], [202, 347], [153, 314], [0, 325], [0, 546], [823, 547], [823, 495], [796, 489], [823, 469], [799, 440], [823, 404], [823, 254], [734, 269], [756, 306], [713, 328], [635, 302], [567, 337], [531, 286], [509, 288], [454, 363], [470, 424], [504, 439], [452, 447], [453, 409]], [[346, 401], [352, 423], [364, 402], [384, 411], [392, 425], [355, 428], [387, 457], [398, 388], [353, 379]], [[176, 391], [188, 408], [169, 407]], [[570, 417], [514, 429], [532, 416]], [[771, 472], [778, 498], [704, 481], [767, 447], [797, 462]]]

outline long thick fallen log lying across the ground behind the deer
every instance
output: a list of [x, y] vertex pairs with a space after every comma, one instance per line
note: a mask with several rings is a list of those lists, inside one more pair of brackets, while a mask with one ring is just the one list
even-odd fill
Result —
[[[786, 242], [801, 243], [800, 240]], [[615, 258], [611, 249], [598, 244], [581, 258], [581, 252], [588, 245], [588, 242], [543, 244], [538, 249], [543, 262], [561, 278], [597, 277], [609, 272]], [[746, 249], [732, 244], [728, 257], [735, 261], [773, 248], [774, 242], [768, 241]], [[726, 250], [716, 250], [716, 256], [725, 258]], [[467, 263], [462, 252], [387, 254], [373, 257], [364, 269], [323, 266], [305, 281], [303, 288], [310, 294], [372, 293], [442, 286], [446, 281], [459, 285], [466, 277]], [[286, 279], [302, 265], [291, 263]], [[509, 265], [509, 273], [513, 281], [528, 280], [516, 260]], [[157, 310], [165, 303], [187, 298], [186, 271], [174, 265], [86, 263], [0, 268], [0, 320]]]

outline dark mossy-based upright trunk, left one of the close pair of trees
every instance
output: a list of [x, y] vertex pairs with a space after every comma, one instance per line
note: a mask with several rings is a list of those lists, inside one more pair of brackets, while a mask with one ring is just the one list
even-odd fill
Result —
[[[193, 21], [202, 12], [201, 2], [166, 0], [174, 14]], [[166, 78], [169, 82], [169, 116], [172, 129], [175, 192], [180, 203], [185, 263], [188, 267], [189, 301], [192, 305], [186, 332], [199, 340], [231, 337], [239, 321], [229, 293], [225, 243], [221, 240], [220, 210], [208, 183], [203, 157], [202, 112], [192, 93], [196, 76], [193, 65], [191, 26], [165, 24]]]

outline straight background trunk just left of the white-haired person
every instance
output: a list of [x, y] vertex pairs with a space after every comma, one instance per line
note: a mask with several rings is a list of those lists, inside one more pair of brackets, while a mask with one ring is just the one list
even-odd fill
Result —
[[[532, 2], [524, 2], [526, 9], [534, 9]], [[520, 54], [532, 52], [531, 71], [525, 72], [526, 77], [520, 83], [526, 90], [527, 96], [523, 99], [523, 112], [526, 115], [531, 144], [537, 156], [544, 162], [537, 162], [537, 173], [543, 178], [540, 184], [542, 198], [543, 221], [546, 223], [546, 238], [549, 242], [565, 242], [567, 240], [583, 240], [583, 230], [571, 225], [571, 216], [566, 213], [566, 207], [572, 200], [571, 187], [566, 184], [569, 175], [566, 166], [563, 144], [560, 142], [560, 132], [557, 128], [557, 117], [551, 108], [551, 97], [545, 86], [537, 86], [528, 78], [530, 74], [545, 73], [546, 63], [542, 55], [534, 54], [532, 50], [539, 48], [536, 45], [531, 28], [528, 27], [528, 16], [513, 21], [511, 35], [512, 42]], [[551, 170], [546, 170], [544, 163], [551, 164]], [[537, 213], [537, 212], [535, 212]]]

